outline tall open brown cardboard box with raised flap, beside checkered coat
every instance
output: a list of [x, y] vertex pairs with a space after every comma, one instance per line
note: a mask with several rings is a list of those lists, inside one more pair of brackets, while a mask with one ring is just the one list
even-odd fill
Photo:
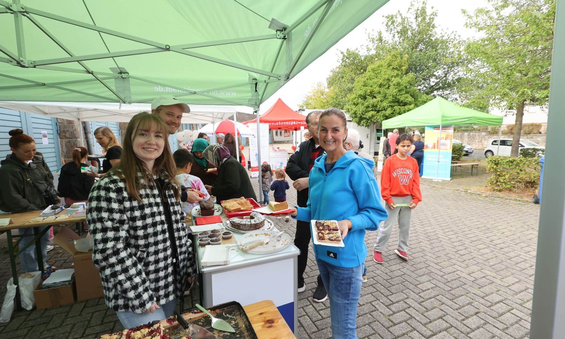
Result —
[[53, 241], [72, 255], [75, 263], [76, 297], [77, 301], [85, 301], [104, 296], [102, 280], [98, 268], [92, 263], [92, 251], [79, 252], [73, 240], [81, 237], [70, 228], [63, 228], [56, 234]]

